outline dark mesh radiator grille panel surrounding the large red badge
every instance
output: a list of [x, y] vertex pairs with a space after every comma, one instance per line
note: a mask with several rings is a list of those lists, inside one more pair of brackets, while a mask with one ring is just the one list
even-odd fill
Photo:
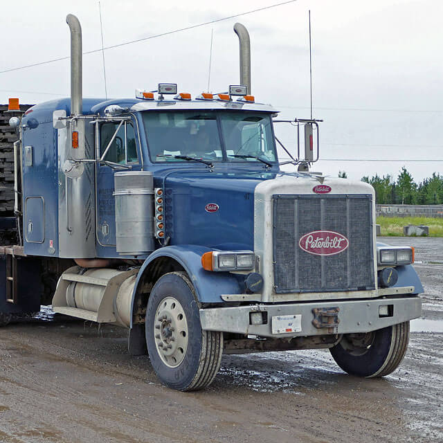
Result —
[[[299, 246], [316, 230], [344, 235], [336, 255], [313, 255]], [[274, 284], [277, 293], [374, 289], [371, 195], [274, 195]]]

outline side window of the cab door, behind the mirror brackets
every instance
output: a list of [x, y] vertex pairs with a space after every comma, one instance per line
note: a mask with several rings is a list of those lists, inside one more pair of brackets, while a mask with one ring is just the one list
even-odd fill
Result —
[[113, 163], [136, 163], [138, 161], [136, 136], [132, 123], [123, 123], [118, 129], [119, 123], [102, 123], [100, 126], [100, 156], [102, 156], [112, 141], [103, 160]]

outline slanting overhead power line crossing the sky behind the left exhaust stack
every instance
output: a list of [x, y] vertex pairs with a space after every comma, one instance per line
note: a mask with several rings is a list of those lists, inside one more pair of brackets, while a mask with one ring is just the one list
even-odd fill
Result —
[[[181, 33], [183, 30], [195, 29], [195, 28], [199, 28], [200, 26], [206, 26], [206, 25], [209, 25], [209, 24], [219, 23], [220, 21], [226, 21], [226, 20], [229, 20], [229, 19], [235, 19], [237, 17], [242, 17], [243, 15], [253, 14], [254, 12], [260, 12], [260, 11], [264, 11], [264, 10], [271, 9], [271, 8], [277, 8], [278, 6], [284, 6], [284, 5], [287, 5], [289, 3], [295, 3], [296, 1], [298, 1], [298, 0], [289, 0], [289, 1], [283, 1], [281, 3], [275, 3], [273, 5], [264, 6], [263, 8], [257, 8], [257, 9], [246, 11], [246, 12], [240, 12], [239, 14], [230, 15], [229, 17], [223, 17], [221, 19], [214, 19], [214, 20], [210, 20], [210, 21], [205, 21], [204, 23], [200, 23], [200, 24], [197, 24], [197, 25], [186, 26], [186, 28], [179, 28], [179, 29], [175, 29], [175, 30], [170, 30], [170, 31], [165, 32], [165, 33], [151, 35], [150, 37], [143, 37], [141, 39], [131, 40], [131, 41], [125, 42], [125, 43], [114, 44], [112, 46], [106, 46], [105, 48], [94, 49], [93, 51], [84, 52], [83, 55], [98, 53], [100, 51], [106, 51], [107, 49], [120, 48], [121, 46], [126, 46], [128, 44], [133, 44], [133, 43], [138, 43], [138, 42], [145, 42], [146, 40], [155, 39], [156, 37], [164, 37], [165, 35], [171, 35], [171, 34], [174, 34], [174, 33]], [[18, 68], [5, 69], [3, 71], [0, 71], [0, 74], [7, 73], [7, 72], [12, 72], [12, 71], [19, 71], [20, 69], [31, 68], [33, 66], [42, 66], [42, 64], [48, 64], [48, 63], [53, 63], [53, 62], [60, 62], [61, 60], [68, 60], [69, 58], [71, 58], [71, 57], [69, 57], [69, 56], [58, 57], [58, 58], [55, 58], [55, 59], [52, 59], [52, 60], [46, 60], [46, 62], [38, 62], [38, 63], [33, 63], [33, 64], [27, 64], [26, 66], [19, 66]]]

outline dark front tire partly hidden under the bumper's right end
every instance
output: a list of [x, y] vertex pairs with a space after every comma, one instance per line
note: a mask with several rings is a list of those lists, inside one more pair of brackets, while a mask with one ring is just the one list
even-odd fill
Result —
[[367, 334], [344, 334], [330, 352], [338, 366], [348, 374], [384, 377], [398, 368], [408, 342], [409, 322], [405, 321]]

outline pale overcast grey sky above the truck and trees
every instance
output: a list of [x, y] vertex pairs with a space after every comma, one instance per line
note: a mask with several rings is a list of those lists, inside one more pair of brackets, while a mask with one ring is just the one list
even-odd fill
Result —
[[[280, 2], [283, 0], [280, 0]], [[168, 2], [101, 0], [105, 46], [221, 19], [278, 0]], [[239, 82], [233, 24], [251, 35], [252, 93], [284, 118], [309, 117], [311, 10], [314, 117], [320, 158], [314, 170], [350, 178], [393, 174], [405, 165], [416, 181], [443, 172], [443, 2], [440, 0], [298, 0], [252, 14], [105, 51], [107, 93], [133, 97], [136, 88], [177, 82], [179, 91]], [[101, 47], [98, 1], [1, 2], [0, 71], [69, 55], [67, 13], [82, 24], [83, 50]], [[84, 55], [85, 97], [105, 97], [102, 53]], [[0, 103], [38, 103], [69, 96], [69, 60], [0, 73]], [[277, 128], [295, 149], [288, 129]], [[379, 159], [383, 162], [345, 161]], [[386, 160], [396, 160], [386, 162]]]

